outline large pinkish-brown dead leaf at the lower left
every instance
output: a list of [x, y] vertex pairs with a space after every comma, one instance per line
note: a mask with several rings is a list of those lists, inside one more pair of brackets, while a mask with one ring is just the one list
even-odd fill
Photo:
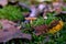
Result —
[[2, 24], [2, 29], [0, 29], [0, 43], [8, 42], [12, 38], [32, 38], [30, 34], [21, 33], [20, 29], [14, 26], [15, 23], [11, 21], [0, 20], [0, 23]]

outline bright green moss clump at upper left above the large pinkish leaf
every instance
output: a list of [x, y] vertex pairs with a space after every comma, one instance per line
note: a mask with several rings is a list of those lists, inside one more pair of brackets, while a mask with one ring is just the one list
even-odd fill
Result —
[[13, 6], [8, 6], [0, 9], [0, 19], [8, 19], [11, 21], [23, 20], [22, 12], [19, 8]]

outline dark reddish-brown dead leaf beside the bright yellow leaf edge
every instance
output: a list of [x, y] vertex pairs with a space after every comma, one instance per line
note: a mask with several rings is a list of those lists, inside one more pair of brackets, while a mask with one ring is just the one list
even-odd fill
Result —
[[35, 34], [36, 35], [41, 35], [41, 34], [44, 34], [48, 31], [48, 26], [43, 24], [43, 25], [38, 25], [38, 26], [35, 26]]

